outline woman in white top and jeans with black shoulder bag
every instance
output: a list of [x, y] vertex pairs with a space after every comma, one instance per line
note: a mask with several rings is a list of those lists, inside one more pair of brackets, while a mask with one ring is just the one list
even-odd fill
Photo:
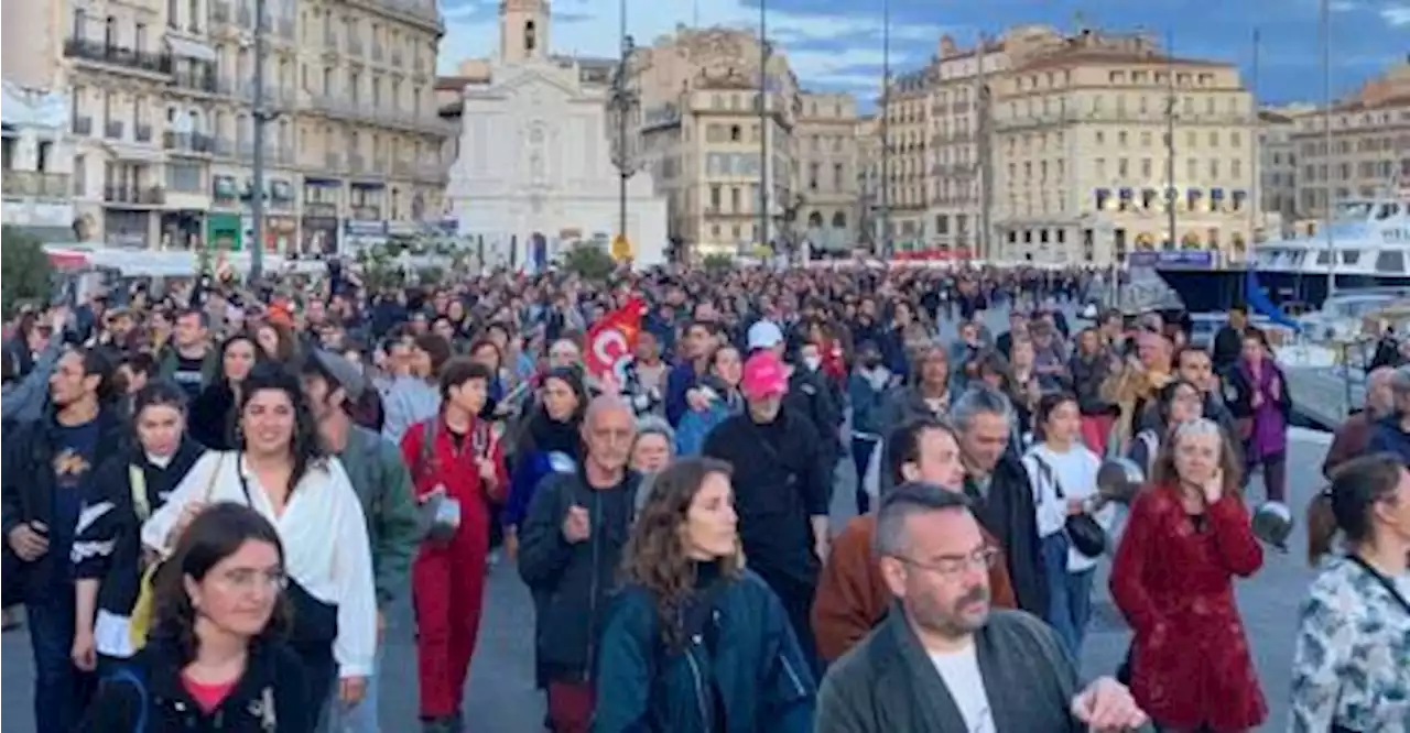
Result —
[[1048, 577], [1046, 620], [1067, 644], [1073, 658], [1079, 660], [1091, 617], [1091, 579], [1097, 558], [1073, 547], [1066, 531], [1067, 520], [1091, 515], [1110, 531], [1115, 506], [1098, 506], [1097, 469], [1101, 460], [1081, 444], [1081, 412], [1076, 396], [1043, 395], [1034, 413], [1034, 427], [1039, 443], [1024, 455], [1024, 468], [1034, 489], [1038, 537]]

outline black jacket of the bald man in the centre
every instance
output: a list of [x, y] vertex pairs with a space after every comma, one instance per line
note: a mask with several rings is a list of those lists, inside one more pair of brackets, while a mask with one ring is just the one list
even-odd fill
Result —
[[[534, 598], [541, 679], [591, 678], [639, 483], [640, 476], [629, 472], [611, 489], [594, 489], [581, 472], [551, 474], [529, 503], [519, 527], [519, 575]], [[563, 536], [572, 506], [587, 509], [591, 520], [588, 540], [577, 544]]]

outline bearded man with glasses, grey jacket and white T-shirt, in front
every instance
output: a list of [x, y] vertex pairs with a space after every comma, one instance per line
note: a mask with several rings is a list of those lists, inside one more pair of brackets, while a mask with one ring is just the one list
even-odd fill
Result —
[[[963, 495], [924, 483], [888, 493], [876, 553], [893, 612], [828, 670], [818, 733], [1128, 730], [1146, 723], [1111, 678], [1077, 691], [1058, 634], [991, 610], [994, 550]], [[1001, 698], [1003, 695], [1003, 698]]]

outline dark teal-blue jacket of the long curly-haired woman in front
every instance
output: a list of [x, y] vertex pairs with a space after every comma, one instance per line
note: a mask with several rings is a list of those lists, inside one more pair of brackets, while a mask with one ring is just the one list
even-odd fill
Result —
[[651, 592], [622, 591], [602, 632], [594, 733], [812, 732], [816, 682], [778, 596], [749, 571], [716, 582], [706, 629], [681, 650], [663, 641]]

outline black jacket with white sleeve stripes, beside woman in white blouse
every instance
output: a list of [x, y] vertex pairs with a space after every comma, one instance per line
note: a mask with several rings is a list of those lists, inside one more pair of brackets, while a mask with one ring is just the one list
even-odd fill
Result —
[[137, 602], [141, 581], [142, 522], [133, 500], [131, 468], [142, 472], [147, 483], [148, 515], [161, 509], [203, 448], [190, 438], [182, 440], [176, 454], [165, 468], [147, 460], [135, 441], [123, 452], [99, 465], [89, 493], [83, 498], [83, 513], [73, 536], [73, 564], [79, 579], [97, 579], [97, 608], [116, 616], [128, 616]]

